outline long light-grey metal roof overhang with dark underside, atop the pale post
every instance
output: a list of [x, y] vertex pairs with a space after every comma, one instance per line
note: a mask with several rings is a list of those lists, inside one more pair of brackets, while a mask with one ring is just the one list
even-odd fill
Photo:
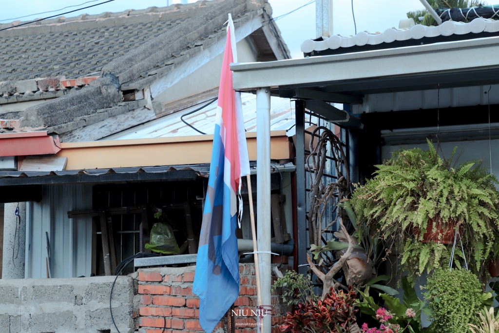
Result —
[[362, 95], [499, 83], [499, 37], [233, 64], [234, 88]]

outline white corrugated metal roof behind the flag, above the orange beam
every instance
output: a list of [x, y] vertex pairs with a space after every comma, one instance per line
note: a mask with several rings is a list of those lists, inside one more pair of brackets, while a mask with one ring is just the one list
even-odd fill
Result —
[[[248, 132], [256, 132], [256, 96], [249, 93], [241, 94], [243, 103], [243, 118]], [[203, 104], [191, 106], [162, 118], [149, 121], [125, 131], [110, 135], [102, 140], [124, 140], [162, 138], [173, 136], [201, 135], [182, 122], [180, 117], [194, 111]], [[213, 134], [215, 129], [215, 116], [217, 101], [204, 109], [184, 117], [192, 126], [206, 134]], [[294, 103], [289, 98], [270, 98], [270, 130], [288, 130], [294, 125]]]

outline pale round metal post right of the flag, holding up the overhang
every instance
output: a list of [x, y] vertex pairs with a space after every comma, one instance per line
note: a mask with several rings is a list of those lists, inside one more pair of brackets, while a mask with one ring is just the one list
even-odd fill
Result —
[[[270, 88], [256, 90], [256, 230], [259, 252], [270, 252]], [[261, 303], [271, 305], [270, 254], [258, 255]], [[263, 333], [271, 332], [270, 315], [263, 317]]]

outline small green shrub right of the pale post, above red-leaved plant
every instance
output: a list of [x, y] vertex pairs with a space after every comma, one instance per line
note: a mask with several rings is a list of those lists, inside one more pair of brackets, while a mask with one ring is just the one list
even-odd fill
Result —
[[295, 271], [287, 271], [282, 278], [274, 281], [270, 291], [273, 292], [277, 288], [282, 288], [282, 300], [286, 305], [315, 303], [319, 299], [313, 291], [310, 276], [303, 276]]

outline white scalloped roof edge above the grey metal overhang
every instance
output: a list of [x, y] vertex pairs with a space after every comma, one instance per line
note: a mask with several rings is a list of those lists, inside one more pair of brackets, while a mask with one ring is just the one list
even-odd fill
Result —
[[[386, 43], [386, 47], [395, 47], [397, 41], [413, 40], [418, 44], [432, 43], [446, 41], [444, 38], [437, 37], [451, 37], [467, 35], [466, 38], [487, 37], [495, 35], [493, 33], [499, 32], [499, 21], [492, 19], [476, 18], [469, 23], [445, 21], [439, 26], [425, 26], [417, 24], [410, 29], [396, 29], [389, 28], [383, 32], [368, 33], [361, 31], [355, 36], [342, 37], [340, 35], [333, 35], [324, 40], [307, 39], [301, 44], [301, 51], [303, 53], [321, 52], [326, 50], [336, 50], [333, 53], [344, 53], [353, 51], [350, 47], [359, 46], [357, 50], [362, 50], [367, 45], [380, 45]], [[489, 33], [489, 34], [487, 34]], [[424, 40], [424, 41], [423, 41]], [[448, 38], [448, 40], [453, 40]], [[403, 44], [401, 46], [407, 46]], [[327, 53], [327, 52], [326, 52]]]

